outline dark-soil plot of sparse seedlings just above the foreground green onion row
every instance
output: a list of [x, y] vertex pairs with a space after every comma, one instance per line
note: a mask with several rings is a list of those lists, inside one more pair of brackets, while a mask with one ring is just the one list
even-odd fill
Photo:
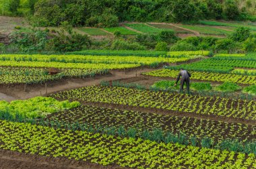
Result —
[[171, 115], [158, 115], [142, 113], [139, 111], [123, 111], [119, 109], [106, 109], [103, 107], [82, 106], [46, 117], [49, 121], [65, 121], [67, 123], [86, 123], [88, 126], [108, 126], [118, 128], [123, 126], [126, 130], [133, 127], [138, 134], [148, 129], [162, 129], [173, 134], [183, 132], [197, 138], [211, 137], [215, 142], [223, 139], [239, 139], [247, 142], [256, 139], [256, 126], [240, 123], [225, 123], [194, 119], [190, 117], [174, 117]]

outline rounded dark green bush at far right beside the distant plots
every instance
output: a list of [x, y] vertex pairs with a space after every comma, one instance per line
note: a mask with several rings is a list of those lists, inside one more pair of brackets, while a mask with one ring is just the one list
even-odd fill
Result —
[[251, 30], [249, 27], [238, 27], [236, 31], [231, 35], [231, 39], [238, 42], [243, 42], [249, 38]]

